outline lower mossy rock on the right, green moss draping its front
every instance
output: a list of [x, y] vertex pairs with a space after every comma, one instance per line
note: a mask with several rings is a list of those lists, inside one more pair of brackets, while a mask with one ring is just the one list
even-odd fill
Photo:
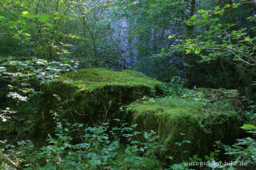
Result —
[[[230, 103], [213, 102], [205, 93], [192, 91], [188, 97], [145, 98], [128, 105], [126, 113], [139, 132], [154, 130], [171, 163], [193, 155], [204, 158], [216, 140], [232, 142], [239, 135], [241, 113]], [[138, 136], [138, 140], [143, 140]]]

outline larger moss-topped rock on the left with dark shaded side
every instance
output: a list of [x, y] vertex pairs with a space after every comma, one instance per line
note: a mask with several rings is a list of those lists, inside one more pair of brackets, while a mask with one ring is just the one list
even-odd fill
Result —
[[[40, 97], [40, 130], [46, 133], [54, 126], [54, 113], [85, 125], [121, 118], [121, 105], [152, 95], [160, 85], [161, 81], [132, 70], [80, 69], [64, 73], [58, 81], [46, 85]], [[58, 112], [60, 107], [62, 110]]]

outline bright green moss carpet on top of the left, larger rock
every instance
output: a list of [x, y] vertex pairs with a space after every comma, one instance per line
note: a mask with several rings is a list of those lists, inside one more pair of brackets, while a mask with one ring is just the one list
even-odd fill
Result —
[[146, 77], [143, 73], [133, 70], [114, 72], [106, 69], [80, 69], [77, 72], [65, 73], [60, 81], [75, 85], [79, 90], [94, 90], [106, 85], [147, 86], [154, 89], [163, 83]]

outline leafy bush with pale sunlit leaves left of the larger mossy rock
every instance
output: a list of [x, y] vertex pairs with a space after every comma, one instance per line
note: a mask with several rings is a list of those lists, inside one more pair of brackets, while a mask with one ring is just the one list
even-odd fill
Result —
[[[43, 85], [55, 81], [59, 73], [75, 70], [78, 65], [72, 61], [48, 62], [38, 58], [18, 60], [14, 57], [0, 57], [0, 60], [1, 98], [3, 100], [0, 108], [2, 127], [0, 135], [4, 143], [2, 145], [5, 145], [6, 142], [12, 142], [3, 139], [18, 140], [20, 136], [30, 134], [35, 120], [33, 113], [36, 111], [36, 105], [34, 104], [38, 101], [38, 94], [41, 93]], [[13, 134], [17, 134], [16, 137], [10, 138]], [[17, 165], [3, 152], [0, 154], [3, 160]]]

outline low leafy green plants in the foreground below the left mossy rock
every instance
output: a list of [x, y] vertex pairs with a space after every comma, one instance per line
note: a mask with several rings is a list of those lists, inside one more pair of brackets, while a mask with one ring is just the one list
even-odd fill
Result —
[[[82, 124], [70, 124], [56, 118], [56, 134], [49, 135], [47, 143], [37, 148], [30, 140], [22, 140], [18, 145], [6, 145], [2, 152], [10, 160], [16, 160], [16, 168], [25, 169], [146, 169], [161, 168], [155, 152], [162, 148], [155, 132], [145, 132], [146, 142], [134, 140], [140, 132], [134, 131], [136, 125], [121, 123], [120, 127], [110, 128], [108, 123], [87, 127], [81, 135], [81, 143], [74, 144], [70, 132], [82, 128]], [[126, 140], [122, 144], [121, 139]], [[5, 143], [6, 141], [2, 141]], [[9, 162], [10, 164], [10, 162]], [[2, 168], [8, 169], [6, 162]]]

